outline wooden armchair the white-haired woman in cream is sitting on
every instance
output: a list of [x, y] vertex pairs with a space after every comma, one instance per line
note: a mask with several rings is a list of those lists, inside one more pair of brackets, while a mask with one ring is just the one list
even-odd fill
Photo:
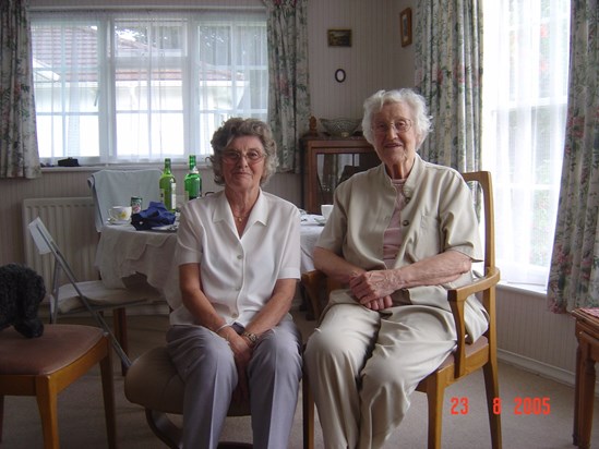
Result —
[[[441, 427], [443, 417], [443, 395], [445, 388], [459, 381], [468, 374], [482, 368], [487, 389], [487, 409], [491, 427], [493, 449], [501, 449], [501, 416], [493, 412], [493, 400], [499, 398], [496, 329], [495, 329], [495, 286], [500, 271], [495, 267], [495, 236], [493, 215], [493, 190], [491, 173], [478, 171], [464, 173], [466, 182], [476, 182], [482, 191], [484, 217], [484, 276], [459, 289], [448, 290], [447, 300], [452, 307], [457, 330], [457, 348], [441, 366], [422, 379], [417, 390], [427, 393], [429, 404], [429, 448], [441, 448]], [[306, 288], [316, 318], [322, 314], [328, 293], [338, 288], [319, 270], [302, 275], [301, 282]], [[489, 329], [472, 344], [466, 343], [464, 321], [465, 301], [477, 294], [489, 313]], [[303, 426], [304, 433], [311, 435], [304, 439], [304, 448], [313, 449], [314, 399], [310, 391], [308, 376], [303, 375]]]

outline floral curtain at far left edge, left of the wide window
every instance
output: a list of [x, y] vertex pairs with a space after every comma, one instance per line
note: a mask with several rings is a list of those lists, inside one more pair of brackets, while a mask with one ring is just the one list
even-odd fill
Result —
[[28, 0], [0, 7], [0, 178], [38, 178]]

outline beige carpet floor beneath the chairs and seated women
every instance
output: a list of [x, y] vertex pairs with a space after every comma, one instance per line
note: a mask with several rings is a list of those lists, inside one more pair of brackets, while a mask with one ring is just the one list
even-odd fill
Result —
[[[293, 311], [304, 339], [314, 321]], [[91, 324], [86, 318], [62, 319], [61, 323]], [[164, 315], [132, 315], [128, 317], [132, 357], [145, 350], [164, 344], [168, 318]], [[165, 446], [154, 436], [145, 422], [143, 410], [124, 398], [123, 378], [115, 357], [115, 388], [119, 448], [153, 449]], [[570, 449], [574, 410], [574, 388], [500, 362], [500, 392], [503, 404], [502, 435], [504, 449]], [[549, 398], [548, 414], [526, 414], [518, 408], [525, 398]], [[468, 401], [467, 410], [463, 406]], [[452, 405], [454, 408], [452, 413]], [[59, 396], [60, 444], [63, 449], [95, 449], [107, 446], [101, 401], [99, 368], [63, 390]], [[599, 400], [595, 401], [595, 432], [591, 447], [599, 448]], [[316, 415], [318, 418], [318, 415]], [[426, 396], [414, 393], [412, 403], [402, 425], [394, 432], [385, 449], [427, 447]], [[249, 417], [227, 418], [221, 440], [251, 441]], [[324, 448], [320, 424], [316, 422], [316, 448]], [[39, 414], [34, 398], [7, 397], [4, 403], [3, 440], [7, 449], [41, 448]], [[443, 448], [490, 448], [489, 424], [484, 400], [482, 373], [475, 373], [450, 387], [445, 392], [443, 416]], [[301, 398], [298, 401], [289, 449], [302, 448]], [[284, 448], [281, 448], [284, 449]]]

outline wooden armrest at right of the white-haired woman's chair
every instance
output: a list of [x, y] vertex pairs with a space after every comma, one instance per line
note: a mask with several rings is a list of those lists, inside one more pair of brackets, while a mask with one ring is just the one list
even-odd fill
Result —
[[490, 343], [494, 339], [494, 315], [495, 315], [495, 294], [494, 287], [500, 281], [500, 270], [496, 267], [487, 269], [487, 274], [464, 287], [447, 290], [447, 301], [452, 307], [455, 329], [457, 333], [457, 348], [454, 353], [455, 376], [460, 377], [465, 374], [466, 366], [466, 321], [464, 307], [466, 300], [476, 293], [483, 292], [482, 303], [487, 313], [491, 317], [489, 320]]

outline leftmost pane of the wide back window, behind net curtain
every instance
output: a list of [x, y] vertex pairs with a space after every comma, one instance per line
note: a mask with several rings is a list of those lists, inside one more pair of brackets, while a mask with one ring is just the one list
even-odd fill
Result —
[[[34, 22], [32, 47], [40, 157], [98, 157], [98, 22]], [[88, 142], [94, 138], [94, 142]]]

